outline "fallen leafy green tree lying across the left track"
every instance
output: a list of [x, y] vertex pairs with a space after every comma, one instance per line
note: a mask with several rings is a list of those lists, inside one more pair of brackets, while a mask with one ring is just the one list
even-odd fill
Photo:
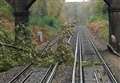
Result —
[[42, 67], [48, 67], [58, 61], [66, 64], [72, 63], [72, 48], [64, 42], [67, 34], [67, 29], [60, 32], [56, 51], [49, 48], [42, 57], [41, 51], [37, 50], [34, 45], [29, 46], [26, 43], [16, 45], [10, 33], [0, 28], [0, 72], [31, 62]]

